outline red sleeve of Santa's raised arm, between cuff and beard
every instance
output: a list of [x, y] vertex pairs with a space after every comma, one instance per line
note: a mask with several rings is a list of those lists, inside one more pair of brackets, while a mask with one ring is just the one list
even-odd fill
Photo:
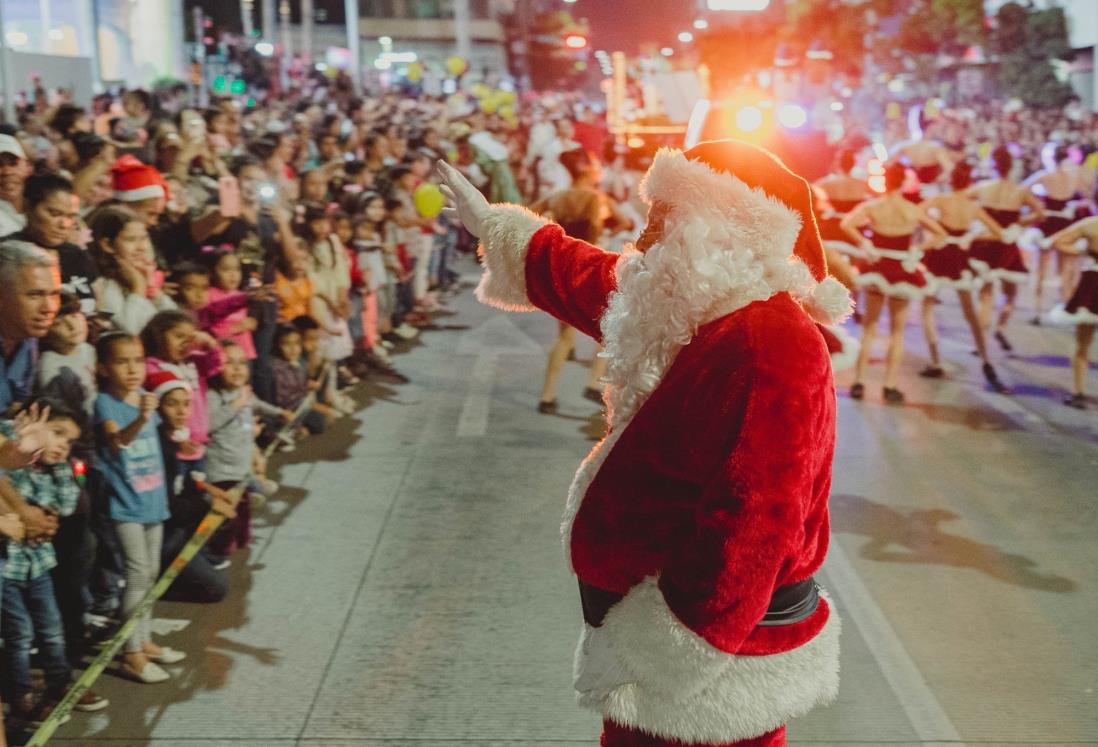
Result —
[[527, 247], [526, 294], [538, 309], [601, 341], [598, 323], [616, 288], [618, 259], [550, 223], [534, 234]]

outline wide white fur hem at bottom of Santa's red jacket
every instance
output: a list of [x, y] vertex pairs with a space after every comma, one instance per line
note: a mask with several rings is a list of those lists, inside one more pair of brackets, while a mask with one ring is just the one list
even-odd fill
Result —
[[803, 646], [771, 656], [728, 654], [683, 625], [650, 577], [610, 607], [597, 628], [629, 682], [602, 698], [581, 696], [580, 703], [668, 739], [750, 739], [834, 699], [840, 629], [831, 604], [824, 628]]

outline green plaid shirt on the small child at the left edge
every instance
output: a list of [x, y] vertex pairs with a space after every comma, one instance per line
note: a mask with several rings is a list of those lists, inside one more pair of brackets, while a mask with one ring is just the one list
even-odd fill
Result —
[[[0, 426], [0, 432], [10, 437], [10, 431]], [[35, 465], [8, 472], [8, 479], [23, 499], [41, 509], [60, 516], [69, 516], [76, 511], [80, 498], [80, 486], [72, 475], [72, 465]], [[2, 575], [12, 581], [29, 581], [48, 573], [57, 565], [52, 543], [27, 545], [8, 543], [8, 562]]]

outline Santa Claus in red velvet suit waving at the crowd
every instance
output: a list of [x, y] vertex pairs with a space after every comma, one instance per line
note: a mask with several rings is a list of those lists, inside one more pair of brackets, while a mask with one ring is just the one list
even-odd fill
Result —
[[827, 553], [836, 394], [810, 189], [736, 142], [663, 150], [636, 249], [603, 252], [439, 165], [482, 242], [484, 303], [547, 311], [609, 358], [609, 434], [562, 534], [579, 579], [581, 704], [605, 747], [785, 745], [839, 685]]

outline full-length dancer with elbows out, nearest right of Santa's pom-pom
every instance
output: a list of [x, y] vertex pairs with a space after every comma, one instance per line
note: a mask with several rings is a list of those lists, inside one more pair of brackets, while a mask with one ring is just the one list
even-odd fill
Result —
[[[915, 231], [922, 226], [934, 235], [934, 241], [948, 235], [937, 221], [900, 192], [905, 176], [903, 164], [889, 164], [885, 169], [884, 197], [863, 202], [842, 220], [843, 231], [869, 258], [855, 280], [865, 289], [862, 349], [858, 355], [854, 383], [850, 388], [850, 395], [855, 400], [865, 397], [863, 380], [873, 338], [877, 334], [877, 321], [887, 301], [888, 354], [885, 357], [883, 394], [888, 404], [904, 403], [904, 393], [896, 386], [904, 357], [904, 325], [911, 301], [922, 299], [930, 290], [927, 275], [919, 266], [921, 253], [912, 245]], [[862, 233], [864, 228], [872, 231], [872, 238]]]

